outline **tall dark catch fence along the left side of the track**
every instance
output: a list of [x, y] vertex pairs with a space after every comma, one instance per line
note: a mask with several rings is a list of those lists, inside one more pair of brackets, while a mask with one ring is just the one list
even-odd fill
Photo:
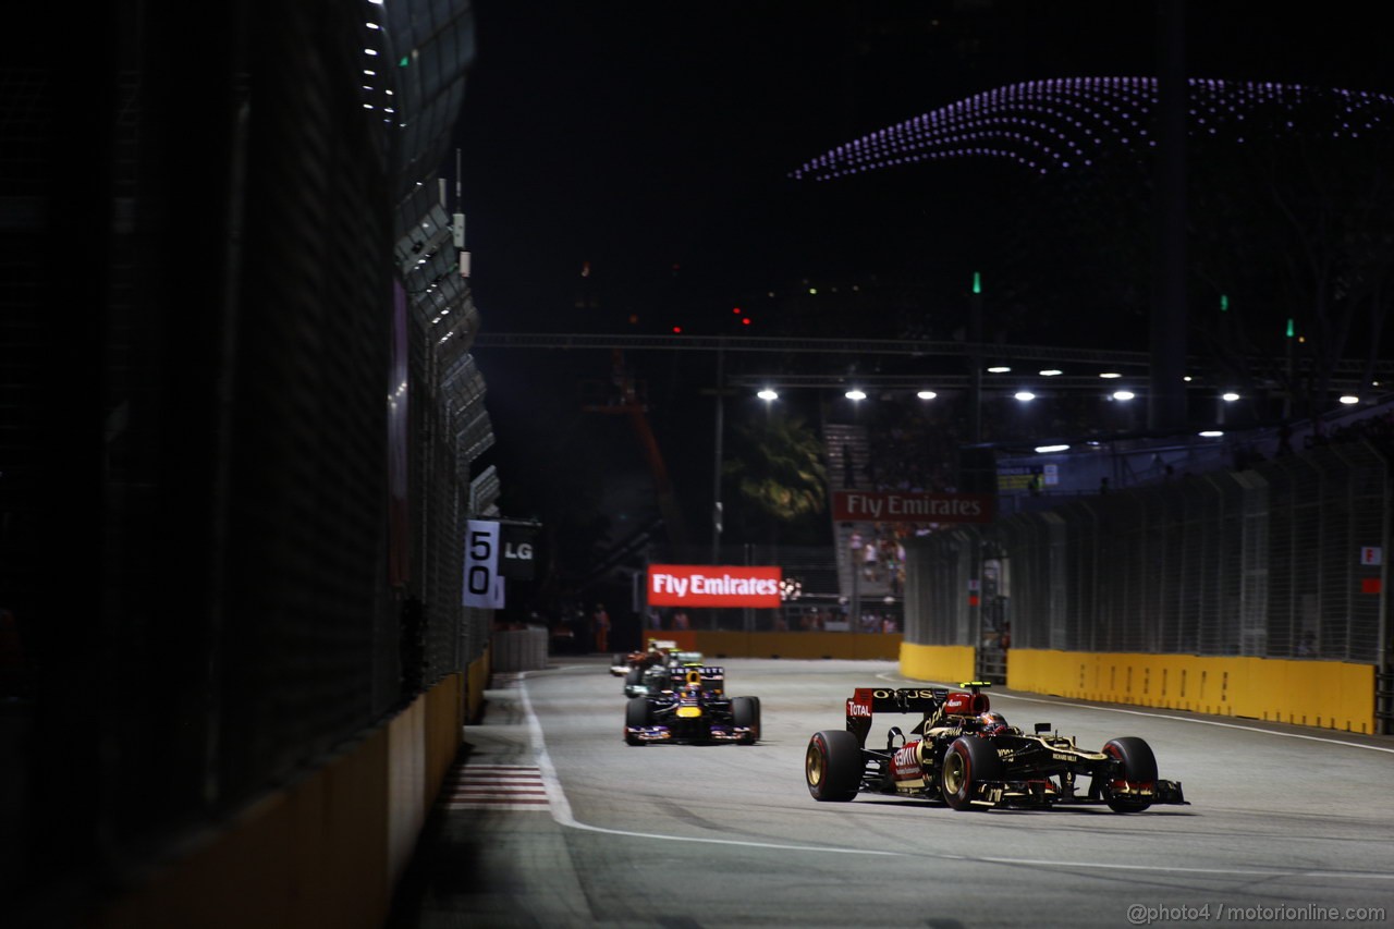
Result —
[[[0, 893], [50, 882], [56, 923], [86, 904], [74, 869], [128, 884], [488, 642], [459, 605], [463, 522], [496, 498], [471, 477], [477, 314], [432, 176], [468, 4], [382, 10], [374, 42], [411, 64], [390, 120], [364, 10], [247, 13], [195, 33], [142, 10], [103, 54], [0, 77], [29, 204], [0, 294], [0, 607], [24, 647], [0, 703], [26, 732], [0, 746]], [[109, 163], [66, 170], [91, 152]]]

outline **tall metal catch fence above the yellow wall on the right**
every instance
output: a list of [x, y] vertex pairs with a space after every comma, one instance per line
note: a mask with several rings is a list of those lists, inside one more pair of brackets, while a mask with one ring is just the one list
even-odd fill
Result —
[[906, 642], [1380, 665], [1388, 515], [1355, 441], [921, 537]]

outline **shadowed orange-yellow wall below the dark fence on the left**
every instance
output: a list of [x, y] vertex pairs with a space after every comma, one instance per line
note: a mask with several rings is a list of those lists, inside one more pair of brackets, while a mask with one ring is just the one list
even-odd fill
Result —
[[181, 848], [84, 925], [381, 929], [487, 681], [485, 654]]

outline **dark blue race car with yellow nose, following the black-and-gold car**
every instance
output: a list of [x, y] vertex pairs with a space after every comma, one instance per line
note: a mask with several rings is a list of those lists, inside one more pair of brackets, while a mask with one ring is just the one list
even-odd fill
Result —
[[[650, 668], [648, 675], [654, 670]], [[630, 697], [625, 707], [625, 741], [735, 742], [760, 739], [760, 697], [726, 696], [726, 672], [715, 665], [666, 668], [662, 683], [652, 677], [648, 692]]]

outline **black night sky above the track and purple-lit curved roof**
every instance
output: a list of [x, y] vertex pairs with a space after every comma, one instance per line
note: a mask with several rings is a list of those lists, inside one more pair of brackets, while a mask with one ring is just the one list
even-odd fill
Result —
[[[1376, 10], [1192, 3], [1188, 73], [1394, 91]], [[1002, 167], [937, 163], [845, 184], [789, 173], [1006, 84], [1150, 77], [1157, 61], [1157, 4], [1125, 0], [481, 0], [475, 17], [457, 141], [474, 296], [496, 333], [732, 332], [736, 305], [753, 317], [744, 332], [789, 333], [788, 321], [758, 315], [761, 297], [810, 275], [895, 275], [906, 243], [933, 251], [920, 255], [926, 299], [959, 301], [972, 268], [1001, 247], [1001, 230], [981, 219], [999, 222], [983, 205], [1002, 190]], [[868, 335], [857, 319], [841, 325]], [[655, 410], [659, 431], [707, 442], [672, 455], [710, 453], [710, 424], [675, 430], [672, 418], [677, 395], [710, 384], [714, 361], [633, 357], [669, 398]], [[542, 509], [528, 485], [555, 480], [538, 459], [555, 460], [563, 434], [630, 442], [574, 416], [580, 381], [606, 377], [602, 353], [477, 349], [475, 358], [506, 504]], [[631, 463], [641, 466], [637, 452]]]

